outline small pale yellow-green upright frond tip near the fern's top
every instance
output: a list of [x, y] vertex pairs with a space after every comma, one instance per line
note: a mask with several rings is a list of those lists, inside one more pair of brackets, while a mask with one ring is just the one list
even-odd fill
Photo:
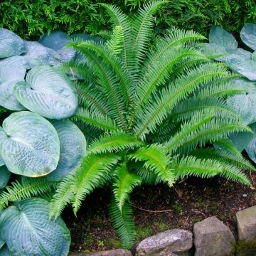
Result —
[[124, 29], [122, 26], [115, 26], [112, 37], [107, 41], [107, 48], [113, 54], [119, 54], [122, 51], [124, 43]]

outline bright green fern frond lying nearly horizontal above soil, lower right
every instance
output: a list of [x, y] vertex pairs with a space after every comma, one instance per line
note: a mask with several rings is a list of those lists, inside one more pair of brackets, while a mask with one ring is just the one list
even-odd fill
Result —
[[196, 176], [201, 178], [210, 178], [221, 174], [223, 166], [215, 160], [196, 159], [194, 156], [174, 156], [171, 162], [171, 169], [174, 170], [176, 178], [185, 178], [186, 176]]

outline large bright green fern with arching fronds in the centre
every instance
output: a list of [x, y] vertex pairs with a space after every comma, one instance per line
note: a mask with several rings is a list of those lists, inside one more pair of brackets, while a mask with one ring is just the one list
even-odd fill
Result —
[[114, 24], [110, 40], [69, 43], [80, 58], [62, 65], [80, 96], [72, 119], [90, 144], [81, 166], [58, 184], [50, 215], [68, 203], [77, 213], [89, 193], [109, 184], [124, 247], [135, 238], [129, 194], [136, 186], [216, 175], [250, 185], [242, 169], [254, 169], [228, 139], [252, 132], [225, 101], [244, 91], [233, 83], [238, 75], [201, 53], [205, 38], [193, 31], [170, 29], [149, 47], [165, 2], [145, 4], [132, 19], [103, 4]]

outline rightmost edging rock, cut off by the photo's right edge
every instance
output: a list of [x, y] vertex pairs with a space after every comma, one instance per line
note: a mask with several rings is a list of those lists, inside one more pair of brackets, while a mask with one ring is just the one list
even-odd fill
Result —
[[256, 206], [240, 210], [236, 214], [238, 238], [250, 242], [256, 240]]

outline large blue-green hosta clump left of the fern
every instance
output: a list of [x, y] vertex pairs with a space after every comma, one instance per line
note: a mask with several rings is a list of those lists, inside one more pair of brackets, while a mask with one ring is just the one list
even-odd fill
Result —
[[[59, 34], [43, 38], [56, 42]], [[73, 58], [72, 49], [0, 28], [0, 255], [68, 255], [70, 232], [60, 217], [49, 218], [49, 201], [86, 150], [85, 136], [67, 119], [78, 109], [78, 93], [58, 70]]]

